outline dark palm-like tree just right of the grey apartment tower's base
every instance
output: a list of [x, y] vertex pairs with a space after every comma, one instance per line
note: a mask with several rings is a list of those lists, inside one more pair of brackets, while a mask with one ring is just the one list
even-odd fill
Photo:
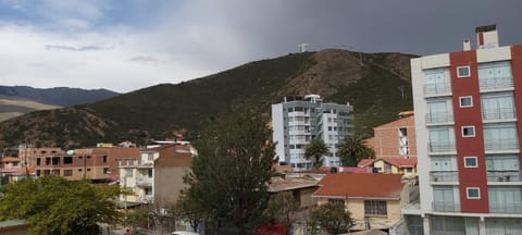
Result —
[[337, 156], [344, 165], [357, 166], [361, 159], [375, 158], [375, 152], [364, 144], [360, 136], [353, 135], [339, 146]]

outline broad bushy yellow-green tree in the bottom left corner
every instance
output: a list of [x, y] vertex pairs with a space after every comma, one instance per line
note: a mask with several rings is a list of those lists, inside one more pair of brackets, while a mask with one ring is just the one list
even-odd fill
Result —
[[99, 234], [98, 223], [121, 221], [113, 201], [120, 193], [117, 185], [92, 185], [51, 175], [26, 178], [5, 187], [0, 198], [0, 221], [25, 219], [29, 234]]

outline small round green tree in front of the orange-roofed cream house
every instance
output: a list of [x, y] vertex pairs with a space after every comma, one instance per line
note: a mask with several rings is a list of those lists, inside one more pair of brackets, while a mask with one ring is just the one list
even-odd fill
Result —
[[341, 203], [325, 203], [310, 213], [312, 224], [321, 226], [328, 234], [347, 233], [353, 225], [351, 213]]

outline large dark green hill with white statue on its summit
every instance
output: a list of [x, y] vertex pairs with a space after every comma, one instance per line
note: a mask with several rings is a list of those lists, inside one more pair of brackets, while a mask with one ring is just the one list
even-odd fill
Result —
[[91, 104], [38, 111], [0, 123], [0, 147], [20, 143], [76, 147], [97, 141], [194, 138], [228, 112], [270, 121], [271, 103], [285, 96], [318, 94], [326, 102], [350, 102], [356, 132], [412, 109], [410, 59], [401, 53], [328, 49], [244, 64], [207, 77], [161, 84]]

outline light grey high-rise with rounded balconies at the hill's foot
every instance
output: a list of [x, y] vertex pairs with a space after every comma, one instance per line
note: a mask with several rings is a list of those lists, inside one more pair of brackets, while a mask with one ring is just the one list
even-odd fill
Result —
[[338, 144], [353, 133], [353, 107], [349, 103], [323, 103], [318, 95], [285, 97], [272, 104], [273, 140], [279, 162], [294, 171], [309, 170], [312, 161], [304, 158], [304, 149], [313, 138], [322, 139], [331, 153], [323, 157], [323, 165], [338, 166]]

